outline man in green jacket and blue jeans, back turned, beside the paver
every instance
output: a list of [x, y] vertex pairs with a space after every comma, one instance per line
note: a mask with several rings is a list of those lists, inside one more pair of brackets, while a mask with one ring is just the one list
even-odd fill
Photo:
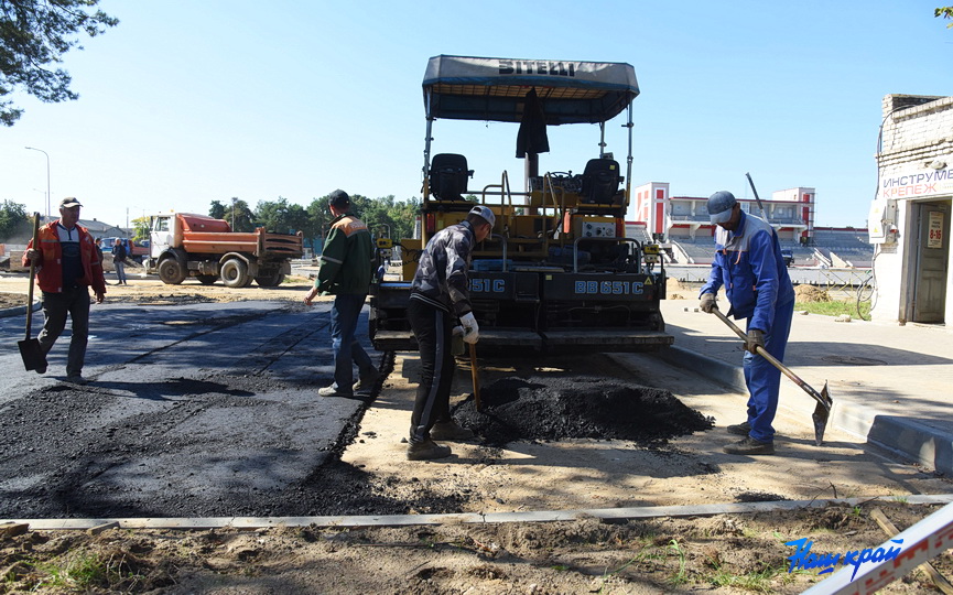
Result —
[[[355, 392], [370, 391], [380, 376], [354, 336], [373, 274], [373, 240], [367, 225], [350, 215], [350, 197], [346, 192], [331, 193], [328, 208], [334, 220], [321, 255], [317, 279], [304, 296], [304, 303], [311, 305], [318, 293], [334, 295], [331, 309], [334, 382], [317, 393], [353, 397]], [[358, 367], [357, 382], [354, 382], [353, 364]]]

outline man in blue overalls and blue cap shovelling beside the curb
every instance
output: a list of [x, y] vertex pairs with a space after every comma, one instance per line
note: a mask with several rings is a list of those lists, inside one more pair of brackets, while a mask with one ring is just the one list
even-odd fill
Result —
[[708, 198], [708, 216], [717, 224], [715, 260], [708, 282], [701, 291], [700, 307], [712, 313], [715, 295], [725, 288], [730, 310], [728, 316], [747, 318], [748, 342], [745, 346], [745, 382], [750, 394], [748, 420], [729, 425], [728, 432], [745, 439], [725, 446], [728, 454], [760, 455], [775, 453], [775, 429], [771, 422], [778, 410], [781, 371], [756, 355], [761, 346], [778, 361], [784, 360], [784, 347], [794, 313], [794, 288], [781, 257], [778, 234], [764, 219], [748, 215], [730, 192], [716, 192]]

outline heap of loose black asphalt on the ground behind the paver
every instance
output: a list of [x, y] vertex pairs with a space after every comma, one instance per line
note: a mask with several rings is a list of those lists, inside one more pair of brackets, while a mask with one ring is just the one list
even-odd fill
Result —
[[490, 446], [566, 439], [661, 446], [714, 424], [667, 390], [591, 376], [502, 378], [481, 389], [480, 402], [483, 411], [470, 398], [453, 415]]

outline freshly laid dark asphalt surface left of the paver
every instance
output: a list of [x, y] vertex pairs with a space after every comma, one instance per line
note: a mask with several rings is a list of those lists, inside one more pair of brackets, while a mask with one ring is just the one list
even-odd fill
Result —
[[[268, 512], [248, 502], [310, 477], [365, 407], [317, 396], [329, 310], [94, 304], [85, 387], [63, 381], [68, 329], [40, 376], [17, 347], [22, 317], [0, 318], [0, 518]], [[380, 364], [366, 315], [359, 338]]]

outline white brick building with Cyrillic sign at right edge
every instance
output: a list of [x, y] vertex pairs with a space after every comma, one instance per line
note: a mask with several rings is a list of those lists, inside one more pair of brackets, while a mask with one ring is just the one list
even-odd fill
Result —
[[877, 280], [870, 315], [945, 324], [953, 317], [953, 97], [888, 95], [882, 110], [867, 221]]

